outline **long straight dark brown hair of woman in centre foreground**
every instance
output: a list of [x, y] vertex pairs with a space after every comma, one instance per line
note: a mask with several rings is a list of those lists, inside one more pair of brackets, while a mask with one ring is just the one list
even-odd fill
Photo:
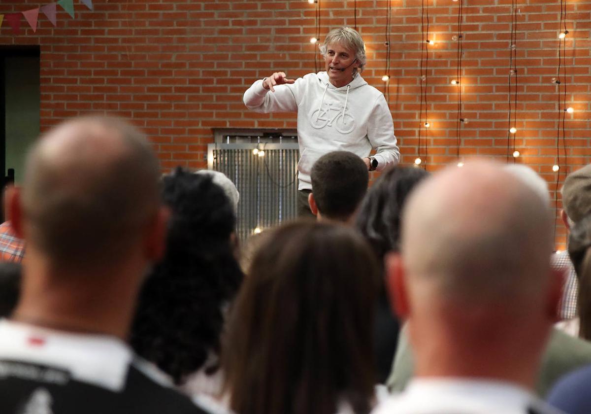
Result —
[[352, 229], [297, 222], [252, 262], [228, 326], [223, 367], [240, 414], [371, 409], [378, 268]]

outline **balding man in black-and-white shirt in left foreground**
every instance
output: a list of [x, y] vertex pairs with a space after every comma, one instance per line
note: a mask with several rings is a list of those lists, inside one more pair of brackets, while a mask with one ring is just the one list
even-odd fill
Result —
[[65, 122], [34, 145], [10, 202], [27, 259], [0, 321], [0, 412], [202, 412], [124, 342], [164, 248], [158, 175], [144, 136], [115, 118]]

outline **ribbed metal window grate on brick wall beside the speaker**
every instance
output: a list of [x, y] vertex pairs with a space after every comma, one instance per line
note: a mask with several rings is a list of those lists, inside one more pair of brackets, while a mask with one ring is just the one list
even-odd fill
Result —
[[[256, 135], [255, 135], [256, 136]], [[296, 218], [297, 142], [216, 142], [207, 147], [207, 167], [226, 174], [240, 192], [236, 232], [245, 240], [255, 228]], [[255, 148], [264, 156], [254, 154]]]

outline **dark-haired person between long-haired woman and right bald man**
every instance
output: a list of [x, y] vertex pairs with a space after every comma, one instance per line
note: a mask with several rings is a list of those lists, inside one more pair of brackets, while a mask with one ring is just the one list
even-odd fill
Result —
[[356, 219], [356, 227], [369, 242], [382, 270], [374, 325], [378, 383], [385, 383], [388, 378], [400, 329], [384, 287], [384, 256], [388, 251], [398, 251], [402, 206], [411, 190], [428, 176], [425, 170], [414, 167], [387, 170], [369, 189]]

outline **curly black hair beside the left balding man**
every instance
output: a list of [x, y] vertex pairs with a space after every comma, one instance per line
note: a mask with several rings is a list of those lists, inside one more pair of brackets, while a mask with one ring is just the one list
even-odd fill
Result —
[[219, 355], [223, 308], [243, 274], [230, 240], [233, 206], [211, 176], [178, 167], [163, 178], [163, 201], [171, 209], [166, 252], [139, 293], [130, 342], [180, 385]]

